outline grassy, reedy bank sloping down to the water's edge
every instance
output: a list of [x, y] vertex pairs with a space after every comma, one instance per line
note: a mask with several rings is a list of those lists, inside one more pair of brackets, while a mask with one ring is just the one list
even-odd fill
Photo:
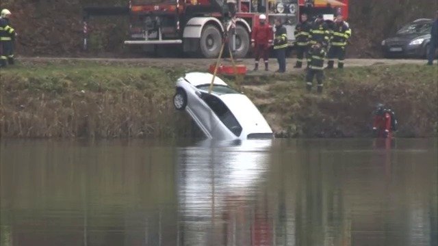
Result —
[[[172, 107], [184, 68], [63, 61], [1, 70], [1, 137], [179, 137], [187, 115]], [[400, 137], [436, 136], [436, 66], [397, 65], [326, 72], [324, 94], [306, 93], [304, 74], [229, 82], [250, 97], [282, 137], [370, 135], [376, 102], [390, 105]]]

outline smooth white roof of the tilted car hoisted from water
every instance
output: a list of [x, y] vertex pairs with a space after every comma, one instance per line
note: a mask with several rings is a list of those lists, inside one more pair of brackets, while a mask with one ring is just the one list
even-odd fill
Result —
[[219, 98], [235, 115], [246, 135], [250, 133], [272, 133], [268, 122], [247, 96], [243, 94], [224, 94], [220, 95]]

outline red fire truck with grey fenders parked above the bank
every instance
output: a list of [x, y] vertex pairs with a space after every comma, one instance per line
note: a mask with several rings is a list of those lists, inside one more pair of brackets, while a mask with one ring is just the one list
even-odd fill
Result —
[[[145, 49], [176, 45], [184, 53], [201, 57], [218, 57], [224, 33], [229, 27], [227, 16], [230, 0], [130, 0], [130, 37], [127, 45]], [[259, 15], [266, 14], [274, 27], [281, 18], [289, 46], [294, 44], [294, 28], [301, 13], [311, 19], [323, 14], [324, 19], [342, 14], [348, 18], [348, 0], [234, 0], [235, 57], [246, 57], [250, 51], [250, 33], [258, 25]]]

